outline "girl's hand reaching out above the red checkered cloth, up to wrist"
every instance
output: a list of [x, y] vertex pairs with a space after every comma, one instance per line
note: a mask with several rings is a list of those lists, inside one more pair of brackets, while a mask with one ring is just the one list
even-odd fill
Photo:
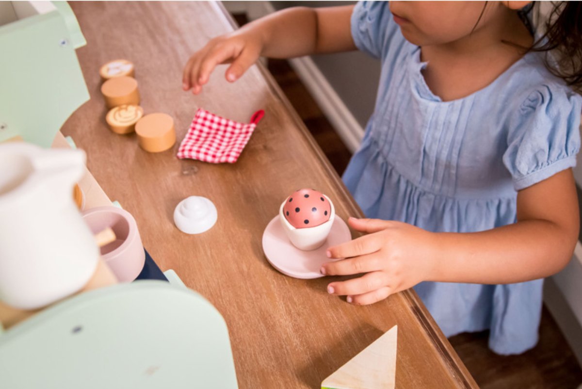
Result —
[[240, 29], [212, 38], [202, 49], [190, 57], [182, 77], [182, 89], [192, 89], [198, 94], [208, 82], [210, 73], [221, 63], [232, 63], [226, 69], [226, 79], [235, 82], [261, 55], [262, 39], [258, 31]]

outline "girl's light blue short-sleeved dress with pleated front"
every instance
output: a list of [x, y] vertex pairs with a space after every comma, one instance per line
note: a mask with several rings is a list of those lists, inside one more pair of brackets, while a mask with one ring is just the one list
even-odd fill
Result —
[[[540, 54], [443, 102], [425, 84], [420, 48], [404, 39], [387, 3], [358, 3], [352, 35], [382, 61], [374, 114], [343, 176], [367, 217], [434, 232], [512, 224], [517, 190], [576, 164], [582, 98], [545, 69]], [[537, 343], [542, 281], [414, 289], [446, 336], [489, 329], [489, 347], [512, 354]]]

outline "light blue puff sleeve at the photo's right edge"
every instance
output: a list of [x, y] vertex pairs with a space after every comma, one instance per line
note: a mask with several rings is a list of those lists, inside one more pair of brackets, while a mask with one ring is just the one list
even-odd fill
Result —
[[515, 190], [576, 166], [582, 97], [563, 85], [531, 92], [512, 115], [503, 164]]

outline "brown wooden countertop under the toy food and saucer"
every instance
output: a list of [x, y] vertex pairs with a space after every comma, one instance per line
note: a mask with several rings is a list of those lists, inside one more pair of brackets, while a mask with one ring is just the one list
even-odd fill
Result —
[[[144, 246], [162, 270], [173, 268], [222, 314], [240, 388], [319, 387], [395, 324], [396, 387], [476, 387], [416, 293], [352, 306], [328, 295], [329, 278], [297, 280], [269, 266], [262, 232], [293, 190], [321, 190], [344, 220], [361, 213], [262, 66], [253, 66], [234, 84], [226, 82], [226, 67], [219, 66], [202, 94], [182, 91], [189, 56], [233, 29], [219, 3], [71, 6], [87, 39], [77, 55], [91, 100], [62, 132], [87, 151], [88, 168], [105, 193], [134, 215]], [[135, 135], [116, 135], [107, 128], [99, 68], [118, 58], [136, 66], [145, 114], [165, 112], [175, 119], [178, 143], [171, 150], [147, 153]], [[241, 122], [265, 110], [236, 164], [175, 157], [198, 107]], [[201, 235], [183, 234], [173, 224], [174, 207], [192, 195], [208, 197], [218, 208], [217, 224]]]

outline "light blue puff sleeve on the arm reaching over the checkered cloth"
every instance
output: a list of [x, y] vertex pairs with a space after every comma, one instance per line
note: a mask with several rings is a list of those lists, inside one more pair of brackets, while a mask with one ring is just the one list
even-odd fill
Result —
[[356, 47], [375, 58], [386, 57], [392, 40], [404, 40], [386, 1], [358, 2], [351, 23]]

